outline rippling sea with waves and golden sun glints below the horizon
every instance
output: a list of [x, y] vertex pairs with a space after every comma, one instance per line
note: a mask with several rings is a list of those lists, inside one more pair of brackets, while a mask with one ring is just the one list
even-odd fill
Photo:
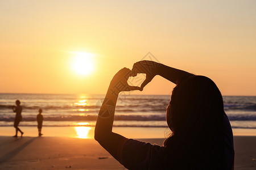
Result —
[[[119, 95], [115, 127], [167, 128], [166, 108], [170, 95]], [[12, 107], [20, 100], [22, 122], [37, 126], [43, 109], [43, 126], [95, 126], [104, 95], [0, 94], [0, 126], [13, 126]], [[232, 128], [256, 129], [256, 96], [223, 96], [224, 109]]]

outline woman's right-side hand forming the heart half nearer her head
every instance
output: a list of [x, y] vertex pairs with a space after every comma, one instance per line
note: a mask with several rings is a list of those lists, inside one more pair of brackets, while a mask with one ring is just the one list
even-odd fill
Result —
[[146, 79], [141, 84], [141, 87], [139, 88], [140, 91], [143, 90], [143, 88], [151, 82], [151, 80], [154, 78], [155, 75], [158, 74], [158, 69], [160, 67], [160, 63], [154, 62], [154, 61], [139, 61], [134, 63], [133, 69], [131, 69], [131, 76], [137, 76], [138, 73], [144, 73], [146, 74]]

